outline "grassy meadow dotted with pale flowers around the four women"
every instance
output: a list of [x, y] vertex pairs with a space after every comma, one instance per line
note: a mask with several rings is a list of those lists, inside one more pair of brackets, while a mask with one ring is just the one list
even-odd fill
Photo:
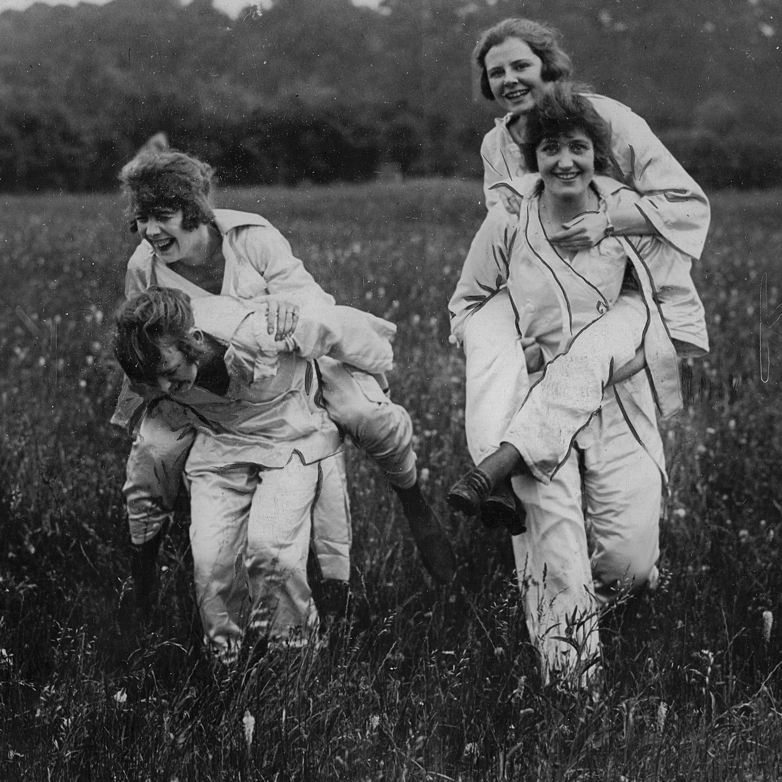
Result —
[[432, 587], [396, 500], [351, 450], [352, 625], [320, 653], [231, 671], [200, 642], [183, 526], [156, 615], [138, 622], [120, 599], [129, 442], [108, 424], [108, 324], [136, 241], [120, 199], [0, 198], [0, 778], [782, 775], [782, 646], [766, 632], [767, 612], [782, 620], [782, 347], [767, 382], [759, 353], [764, 280], [768, 312], [782, 300], [782, 193], [713, 197], [694, 271], [712, 353], [684, 368], [687, 409], [665, 431], [662, 585], [605, 618], [597, 702], [540, 687], [509, 540], [444, 503], [468, 466], [446, 303], [480, 195], [460, 181], [221, 193], [271, 219], [339, 303], [399, 325], [393, 397], [461, 563], [453, 587]]

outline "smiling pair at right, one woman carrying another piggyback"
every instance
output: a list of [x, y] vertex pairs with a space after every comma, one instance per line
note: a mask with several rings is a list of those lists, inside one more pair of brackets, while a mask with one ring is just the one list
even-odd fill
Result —
[[[655, 403], [665, 413], [677, 408], [671, 338], [684, 354], [708, 349], [689, 277], [690, 256], [700, 253], [708, 228], [708, 202], [643, 120], [610, 99], [558, 88], [554, 104], [567, 104], [564, 112], [555, 110], [553, 123], [534, 120], [530, 138], [536, 107], [569, 74], [551, 30], [506, 20], [475, 52], [484, 94], [490, 90], [513, 112], [484, 140], [487, 199], [492, 206], [501, 197], [501, 188], [490, 188], [502, 169], [516, 191], [504, 206], [510, 212], [521, 205], [522, 214], [519, 222], [501, 206], [490, 210], [451, 300], [454, 334], [465, 340], [467, 355], [468, 445], [486, 469], [454, 486], [450, 501], [485, 514], [490, 490], [526, 464], [514, 487], [530, 529], [514, 547], [547, 677], [574, 662], [573, 647], [554, 638], [566, 635], [566, 617], [589, 615], [595, 597], [605, 602], [618, 588], [656, 577], [664, 464]], [[594, 167], [605, 171], [612, 163], [645, 195], [593, 181]], [[522, 175], [530, 165], [540, 168], [542, 191]], [[633, 240], [601, 242], [612, 234]], [[638, 290], [618, 299], [627, 264]], [[558, 358], [508, 429], [529, 389], [524, 348], [533, 343], [543, 361]], [[604, 387], [630, 360], [624, 377], [644, 363], [650, 371], [607, 394], [601, 408]], [[594, 590], [573, 445], [585, 463]], [[594, 626], [585, 623], [581, 634], [586, 657], [594, 657]]]

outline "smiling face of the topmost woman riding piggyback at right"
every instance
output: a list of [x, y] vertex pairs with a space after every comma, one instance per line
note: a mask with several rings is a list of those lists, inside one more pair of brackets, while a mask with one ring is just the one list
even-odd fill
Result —
[[505, 110], [526, 114], [545, 89], [540, 76], [543, 60], [521, 38], [506, 38], [486, 52], [483, 60], [494, 99]]

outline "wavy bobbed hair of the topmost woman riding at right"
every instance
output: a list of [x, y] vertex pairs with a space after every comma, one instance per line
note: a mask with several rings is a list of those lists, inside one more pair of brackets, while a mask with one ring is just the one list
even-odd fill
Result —
[[489, 76], [486, 74], [486, 54], [490, 48], [500, 45], [508, 38], [519, 38], [540, 57], [543, 61], [540, 78], [543, 81], [559, 81], [572, 74], [570, 58], [559, 45], [559, 33], [554, 27], [547, 27], [529, 19], [505, 19], [484, 30], [472, 50], [473, 59], [481, 72], [481, 93], [484, 98], [494, 100]]

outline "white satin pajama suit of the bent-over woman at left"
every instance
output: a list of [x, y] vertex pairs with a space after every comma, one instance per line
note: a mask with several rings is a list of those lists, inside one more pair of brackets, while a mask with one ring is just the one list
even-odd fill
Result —
[[[162, 415], [174, 430], [198, 431], [185, 461], [195, 594], [207, 640], [231, 658], [248, 624], [288, 638], [317, 616], [307, 584], [310, 525], [326, 479], [339, 485], [344, 469], [313, 360], [332, 353], [388, 371], [395, 328], [348, 307], [307, 308], [296, 338], [276, 342], [265, 304], [206, 296], [192, 307], [195, 326], [227, 347], [230, 384], [222, 396], [194, 386], [171, 397], [179, 420], [174, 408]], [[326, 491], [328, 511], [349, 526], [346, 502]]]

